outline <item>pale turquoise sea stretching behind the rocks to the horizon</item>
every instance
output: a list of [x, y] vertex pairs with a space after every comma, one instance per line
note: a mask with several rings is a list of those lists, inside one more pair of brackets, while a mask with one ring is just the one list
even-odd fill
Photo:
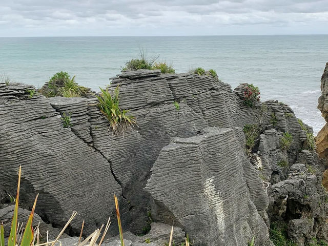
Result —
[[278, 99], [318, 132], [317, 99], [328, 61], [328, 35], [0, 38], [0, 73], [41, 87], [57, 71], [99, 90], [126, 61], [147, 49], [176, 72], [215, 69], [226, 83], [253, 83], [261, 99]]

